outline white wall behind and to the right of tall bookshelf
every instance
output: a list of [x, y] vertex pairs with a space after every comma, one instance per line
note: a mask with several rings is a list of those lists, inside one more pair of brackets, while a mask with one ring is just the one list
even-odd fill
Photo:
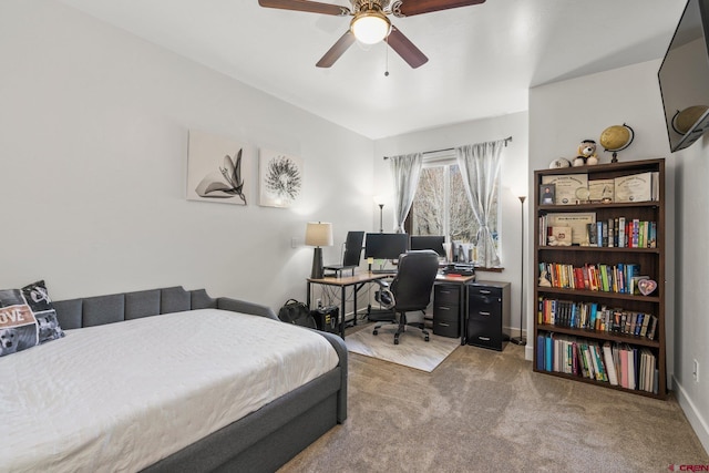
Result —
[[[687, 157], [670, 153], [657, 82], [659, 65], [659, 60], [649, 61], [531, 89], [530, 169], [546, 168], [557, 157], [573, 157], [579, 141], [598, 142], [603, 130], [621, 123], [635, 130], [635, 141], [618, 154], [619, 161], [666, 157], [667, 370], [671, 388], [709, 450], [708, 327], [701, 300], [707, 264], [706, 257], [697, 257], [705, 254], [703, 239], [697, 236], [708, 226], [702, 218], [709, 194], [707, 142], [703, 148], [690, 148]], [[602, 163], [610, 161], [609, 153], [602, 152], [599, 157]], [[527, 238], [532, 245], [531, 233]], [[531, 310], [533, 301], [528, 304]], [[532, 329], [531, 319], [528, 325]], [[532, 349], [527, 346], [530, 359]], [[705, 360], [701, 383], [691, 381], [693, 358]]]

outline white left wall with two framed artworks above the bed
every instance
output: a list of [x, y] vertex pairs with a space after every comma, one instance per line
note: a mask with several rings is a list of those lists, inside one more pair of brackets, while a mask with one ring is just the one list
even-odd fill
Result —
[[[54, 299], [183, 285], [277, 309], [305, 298], [308, 220], [370, 229], [371, 140], [51, 1], [0, 2], [0, 287]], [[248, 143], [248, 206], [186, 200], [187, 137]], [[259, 207], [259, 147], [305, 160]], [[300, 246], [291, 248], [291, 238]]]

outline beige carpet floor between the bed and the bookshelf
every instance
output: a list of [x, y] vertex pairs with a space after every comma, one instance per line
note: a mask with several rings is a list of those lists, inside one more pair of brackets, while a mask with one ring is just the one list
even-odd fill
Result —
[[281, 473], [667, 472], [670, 465], [709, 465], [674, 398], [659, 401], [535, 373], [523, 347], [459, 347], [430, 373], [349, 354], [347, 421]]

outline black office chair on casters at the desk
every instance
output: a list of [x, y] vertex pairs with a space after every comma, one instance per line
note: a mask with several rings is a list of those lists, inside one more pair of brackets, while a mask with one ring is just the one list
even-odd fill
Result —
[[[407, 312], [425, 311], [431, 301], [431, 291], [433, 290], [433, 282], [435, 282], [438, 271], [439, 256], [435, 251], [430, 249], [409, 251], [401, 255], [399, 259], [399, 270], [389, 286], [391, 294], [380, 290], [380, 298], [391, 297], [393, 307], [389, 311], [374, 316], [374, 319], [377, 322], [399, 323], [399, 328], [394, 333], [394, 345], [399, 345], [399, 336], [405, 331], [407, 326], [419, 328], [425, 341], [429, 341], [430, 336], [424, 323], [422, 321], [409, 322]], [[398, 320], [397, 315], [399, 315]], [[379, 333], [382, 325], [376, 325], [372, 333]]]

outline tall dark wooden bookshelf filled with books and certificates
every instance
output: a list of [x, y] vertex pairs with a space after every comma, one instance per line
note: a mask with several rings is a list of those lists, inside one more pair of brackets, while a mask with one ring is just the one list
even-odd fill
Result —
[[[655, 173], [657, 181], [654, 199], [644, 202], [583, 202], [575, 199], [567, 205], [541, 205], [541, 186], [545, 182], [558, 176], [587, 175], [589, 183], [597, 179], [615, 179], [624, 176]], [[576, 177], [576, 176], [574, 176]], [[583, 177], [583, 176], [580, 176]], [[534, 312], [534, 371], [556, 376], [564, 379], [588, 382], [610, 389], [617, 389], [640, 395], [665, 399], [667, 397], [666, 371], [666, 319], [665, 319], [665, 160], [633, 161], [626, 163], [600, 164], [596, 166], [566, 167], [555, 169], [540, 169], [534, 173], [534, 268], [535, 268], [535, 312]], [[558, 194], [557, 194], [558, 195]], [[583, 194], [582, 194], [583, 196]], [[615, 197], [615, 196], [614, 196]], [[655, 247], [618, 247], [614, 234], [614, 246], [588, 245], [588, 235], [584, 235], [582, 243], [573, 246], [546, 245], [548, 219], [555, 214], [595, 214], [596, 222], [614, 222], [624, 217], [626, 222], [654, 222], [656, 232]], [[650, 224], [648, 224], [648, 227]], [[625, 243], [625, 241], [624, 241]], [[625, 270], [626, 265], [638, 265], [638, 276], [648, 276], [657, 282], [657, 289], [649, 295], [631, 294], [630, 279]], [[608, 286], [596, 288], [589, 284], [587, 275], [596, 273], [597, 268], [610, 268], [605, 271]], [[567, 276], [573, 268], [582, 268], [585, 275], [584, 286], [578, 279], [569, 281]], [[554, 270], [557, 276], [551, 286], [542, 286], [540, 278], [543, 270], [547, 274]], [[565, 271], [565, 273], [564, 273]], [[562, 273], [565, 275], [564, 277]], [[551, 278], [549, 278], [551, 279]], [[620, 281], [621, 280], [621, 281]], [[610, 284], [615, 281], [615, 286]], [[557, 306], [563, 307], [563, 313], [553, 313]], [[552, 308], [554, 310], [552, 310]], [[593, 308], [593, 310], [592, 310]], [[604, 312], [600, 312], [605, 309]], [[594, 318], [592, 320], [590, 312]], [[603, 316], [602, 316], [603, 313]], [[649, 330], [643, 331], [640, 325], [634, 325], [643, 313], [643, 319], [656, 318], [654, 337], [647, 337]], [[626, 317], [624, 319], [623, 317]], [[645, 333], [641, 336], [640, 333]], [[612, 356], [604, 353], [604, 345], [610, 348]], [[593, 350], [580, 347], [598, 347], [600, 361], [598, 369], [589, 373], [584, 361], [592, 363]], [[633, 354], [628, 354], [628, 351]], [[635, 370], [641, 374], [635, 377], [635, 388], [631, 382], [623, 385], [623, 363], [626, 358], [625, 371], [628, 362], [634, 363]], [[637, 359], [637, 363], [635, 360]], [[604, 376], [596, 377], [595, 372], [605, 371], [609, 378], [609, 368], [616, 371], [617, 384], [604, 380]], [[617, 363], [617, 364], [616, 364]], [[589, 378], [593, 376], [593, 378]], [[651, 380], [649, 382], [648, 380]], [[644, 388], [644, 389], [643, 389]]]

